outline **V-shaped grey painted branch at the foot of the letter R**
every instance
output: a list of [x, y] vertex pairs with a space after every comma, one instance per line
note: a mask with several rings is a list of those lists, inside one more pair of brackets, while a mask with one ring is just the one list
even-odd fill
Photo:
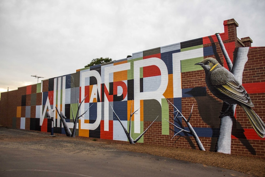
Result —
[[[132, 102], [132, 104], [133, 104], [133, 102]], [[111, 106], [111, 105], [110, 105]], [[125, 134], [126, 134], [126, 136], [127, 136], [127, 138], [128, 138], [128, 140], [129, 140], [129, 142], [130, 142], [130, 144], [135, 144], [144, 134], [145, 134], [145, 132], [152, 126], [152, 124], [156, 121], [156, 119], [158, 118], [158, 116], [156, 117], [156, 119], [149, 125], [149, 127], [140, 135], [140, 136], [138, 136], [135, 140], [133, 140], [133, 138], [132, 138], [132, 136], [131, 136], [131, 130], [132, 130], [132, 128], [131, 128], [131, 126], [132, 126], [132, 116], [135, 114], [135, 112], [136, 111], [138, 111], [140, 108], [138, 108], [136, 111], [134, 111], [133, 113], [132, 113], [132, 107], [133, 106], [131, 106], [131, 112], [130, 112], [130, 121], [129, 121], [129, 132], [127, 131], [127, 129], [124, 127], [124, 125], [123, 125], [123, 123], [121, 122], [121, 119], [119, 118], [119, 116], [115, 113], [115, 111], [114, 111], [114, 109], [113, 109], [113, 107], [111, 106], [111, 108], [112, 108], [112, 110], [113, 110], [113, 113], [115, 114], [115, 119], [117, 119], [120, 123], [121, 123], [121, 126], [122, 126], [122, 128], [123, 128], [123, 130], [124, 130], [124, 132], [125, 132]]]

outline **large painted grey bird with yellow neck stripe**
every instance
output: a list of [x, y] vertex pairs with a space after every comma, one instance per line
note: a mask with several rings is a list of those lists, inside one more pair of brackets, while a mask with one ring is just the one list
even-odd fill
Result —
[[229, 105], [238, 104], [241, 106], [254, 130], [261, 138], [264, 138], [265, 124], [253, 111], [252, 107], [254, 105], [247, 91], [235, 78], [234, 74], [221, 66], [214, 58], [205, 58], [195, 65], [200, 65], [204, 69], [205, 82], [212, 94]]

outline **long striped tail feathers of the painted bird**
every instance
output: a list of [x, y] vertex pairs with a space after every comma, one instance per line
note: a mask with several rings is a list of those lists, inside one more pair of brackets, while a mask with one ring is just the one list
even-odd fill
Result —
[[260, 119], [260, 117], [253, 111], [251, 107], [246, 105], [240, 105], [247, 114], [247, 118], [249, 119], [252, 127], [257, 132], [257, 134], [264, 138], [265, 136], [265, 123]]

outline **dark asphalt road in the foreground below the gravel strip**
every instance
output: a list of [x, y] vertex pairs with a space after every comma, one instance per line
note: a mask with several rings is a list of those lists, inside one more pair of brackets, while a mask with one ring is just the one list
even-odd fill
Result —
[[84, 154], [60, 150], [1, 147], [0, 176], [247, 177], [250, 175], [128, 151], [99, 150], [97, 153], [91, 151]]

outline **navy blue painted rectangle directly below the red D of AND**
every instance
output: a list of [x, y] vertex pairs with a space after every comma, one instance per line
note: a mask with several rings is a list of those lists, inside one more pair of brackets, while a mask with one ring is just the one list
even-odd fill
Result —
[[[113, 110], [119, 116], [119, 118], [121, 120], [127, 120], [127, 101], [115, 101], [115, 102], [113, 102]], [[113, 120], [117, 120], [117, 119], [115, 119], [114, 113], [113, 113]]]

